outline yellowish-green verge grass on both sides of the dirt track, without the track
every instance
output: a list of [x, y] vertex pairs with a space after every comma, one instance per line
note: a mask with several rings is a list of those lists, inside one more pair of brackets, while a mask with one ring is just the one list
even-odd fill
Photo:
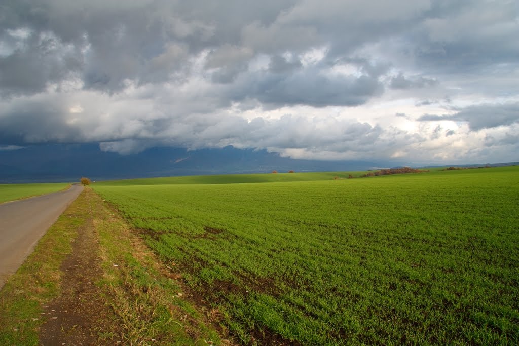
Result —
[[77, 230], [85, 226], [94, 227], [103, 272], [92, 282], [101, 289], [101, 301], [114, 312], [99, 316], [92, 326], [100, 344], [114, 339], [129, 345], [229, 343], [209, 323], [214, 311], [199, 312], [188, 303], [188, 293], [176, 283], [172, 270], [159, 265], [117, 213], [86, 188], [0, 292], [0, 344], [38, 344], [45, 305], [62, 294], [60, 266], [71, 252]]

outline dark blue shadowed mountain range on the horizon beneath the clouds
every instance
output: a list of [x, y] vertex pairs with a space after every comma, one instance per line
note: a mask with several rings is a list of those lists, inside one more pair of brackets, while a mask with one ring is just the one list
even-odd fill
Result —
[[139, 154], [101, 151], [98, 144], [38, 145], [0, 151], [0, 183], [77, 181], [138, 177], [265, 173], [364, 171], [401, 162], [361, 160], [321, 161], [281, 157], [266, 150], [222, 149], [188, 151], [156, 147]]

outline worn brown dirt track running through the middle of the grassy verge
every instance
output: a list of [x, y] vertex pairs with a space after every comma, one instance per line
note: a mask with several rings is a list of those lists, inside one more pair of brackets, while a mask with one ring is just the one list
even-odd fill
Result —
[[[78, 229], [72, 253], [61, 265], [62, 295], [45, 307], [47, 322], [40, 329], [41, 345], [114, 345], [120, 341], [116, 326], [104, 325], [113, 312], [94, 284], [102, 277], [100, 264], [98, 237], [90, 218]], [[102, 341], [100, 335], [110, 341]]]

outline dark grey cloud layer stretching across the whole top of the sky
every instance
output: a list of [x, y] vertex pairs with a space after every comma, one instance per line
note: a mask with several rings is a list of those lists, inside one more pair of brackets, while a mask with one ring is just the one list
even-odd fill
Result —
[[[378, 10], [373, 11], [374, 7]], [[224, 68], [217, 74], [220, 78], [213, 77], [215, 82], [233, 81], [244, 71], [233, 66], [247, 65], [258, 54], [272, 57], [270, 67], [275, 72], [283, 68], [280, 54], [287, 51], [300, 54], [327, 46], [327, 59], [351, 59], [356, 49], [371, 43], [384, 46], [395, 36], [402, 37], [401, 42], [409, 47], [406, 51], [419, 65], [431, 68], [459, 71], [462, 67], [465, 71], [482, 65], [517, 64], [519, 53], [517, 5], [513, 2], [494, 6], [400, 0], [366, 6], [357, 1], [230, 1], [216, 5], [201, 0], [48, 0], [36, 4], [20, 0], [2, 9], [3, 37], [8, 30], [22, 28], [31, 37], [47, 33], [56, 41], [50, 52], [45, 43], [28, 43], [3, 57], [2, 71], [12, 71], [3, 76], [3, 89], [28, 93], [78, 72], [87, 88], [108, 91], [121, 90], [128, 79], [138, 84], [165, 81], [190, 65], [189, 57], [207, 49], [206, 65]], [[297, 67], [297, 59], [293, 63]], [[28, 67], [25, 73], [34, 74], [33, 79], [23, 78], [24, 66]], [[434, 78], [403, 73], [390, 81], [390, 87], [396, 89], [434, 84]]]

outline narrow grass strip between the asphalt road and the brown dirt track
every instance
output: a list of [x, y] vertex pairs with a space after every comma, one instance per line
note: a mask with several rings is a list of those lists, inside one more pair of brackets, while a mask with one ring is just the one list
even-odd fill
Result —
[[84, 203], [82, 194], [40, 239], [0, 292], [0, 344], [38, 344], [44, 305], [60, 294], [61, 262], [71, 252], [77, 229], [88, 219]]

